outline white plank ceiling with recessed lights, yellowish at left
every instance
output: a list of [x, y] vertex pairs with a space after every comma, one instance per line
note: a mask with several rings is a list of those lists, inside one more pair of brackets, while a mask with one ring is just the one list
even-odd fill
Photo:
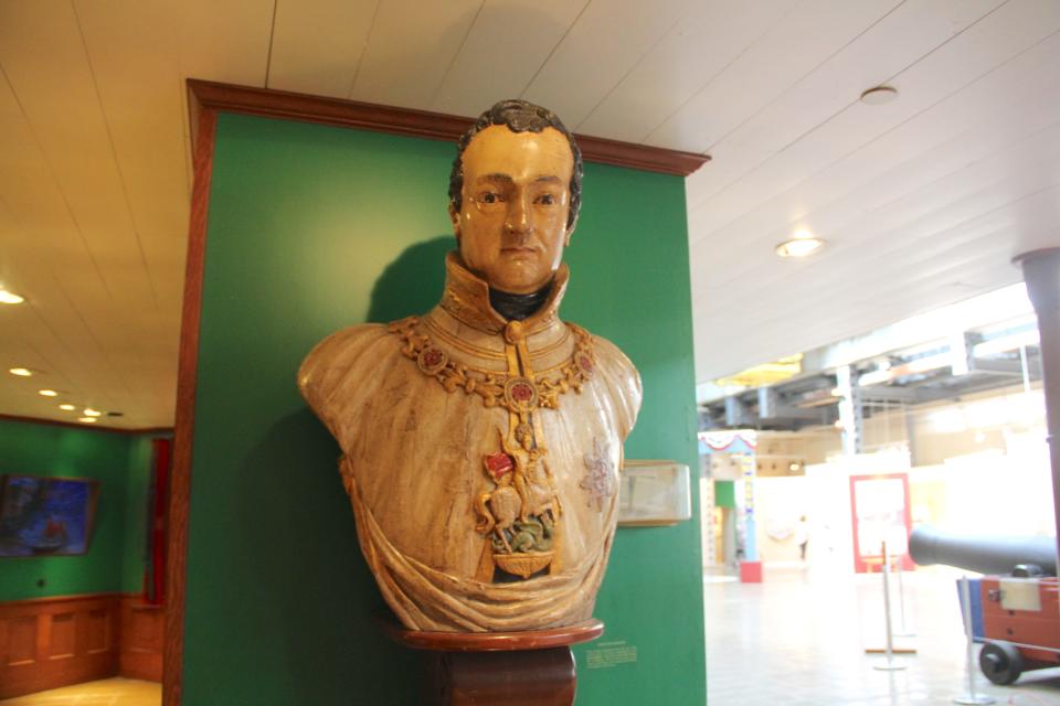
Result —
[[[0, 414], [173, 419], [188, 77], [707, 152], [697, 376], [1019, 279], [1060, 245], [1057, 0], [0, 0]], [[898, 98], [868, 106], [866, 88]], [[443, 189], [444, 185], [439, 185]], [[804, 261], [773, 247], [828, 240]], [[42, 388], [59, 398], [36, 394]]]

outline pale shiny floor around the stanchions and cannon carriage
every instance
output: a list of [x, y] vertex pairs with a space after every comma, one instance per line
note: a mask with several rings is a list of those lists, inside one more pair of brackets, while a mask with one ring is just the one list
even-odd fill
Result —
[[[957, 576], [941, 568], [903, 575], [905, 631], [915, 635], [895, 645], [916, 654], [895, 656], [907, 667], [895, 672], [877, 671], [884, 657], [865, 652], [886, 643], [880, 576], [783, 568], [766, 569], [757, 585], [708, 577], [709, 706], [952, 704], [968, 688]], [[1060, 706], [1060, 668], [1027, 672], [1013, 686], [995, 686], [978, 671], [975, 680], [977, 693], [998, 705]]]

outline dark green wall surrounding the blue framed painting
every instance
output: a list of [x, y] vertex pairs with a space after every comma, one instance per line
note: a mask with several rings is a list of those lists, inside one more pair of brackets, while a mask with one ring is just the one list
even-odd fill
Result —
[[0, 473], [100, 481], [88, 553], [0, 559], [0, 600], [139, 590], [150, 469], [148, 437], [0, 419]]

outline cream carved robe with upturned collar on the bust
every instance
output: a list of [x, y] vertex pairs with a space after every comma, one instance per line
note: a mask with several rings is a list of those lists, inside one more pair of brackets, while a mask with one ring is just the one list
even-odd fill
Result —
[[[342, 449], [361, 548], [405, 627], [580, 622], [592, 617], [614, 537], [639, 376], [612, 343], [559, 319], [565, 266], [548, 301], [519, 322], [490, 308], [487, 285], [453, 254], [446, 270], [443, 300], [430, 313], [328, 336], [303, 363], [299, 387]], [[531, 553], [549, 563], [529, 578], [498, 570], [513, 535], [484, 534], [476, 511], [512, 466], [498, 470], [490, 459], [519, 456], [523, 432], [533, 447], [526, 458], [547, 467], [536, 467], [536, 484], [520, 493], [539, 510], [555, 500], [540, 515], [552, 532], [549, 550]]]

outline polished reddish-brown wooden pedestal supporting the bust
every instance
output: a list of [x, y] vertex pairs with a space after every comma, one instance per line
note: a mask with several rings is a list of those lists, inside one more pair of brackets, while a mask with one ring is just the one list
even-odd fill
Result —
[[384, 623], [399, 643], [425, 653], [432, 706], [570, 706], [577, 678], [572, 644], [595, 640], [604, 623], [526, 632], [418, 632]]

